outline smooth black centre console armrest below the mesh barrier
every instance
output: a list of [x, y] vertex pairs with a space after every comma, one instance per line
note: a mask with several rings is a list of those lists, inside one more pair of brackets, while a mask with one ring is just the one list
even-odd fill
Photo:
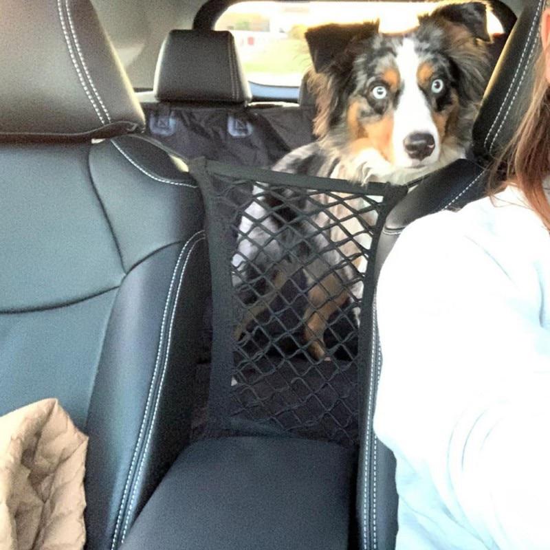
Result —
[[348, 549], [353, 466], [353, 453], [333, 443], [194, 443], [144, 507], [124, 550]]

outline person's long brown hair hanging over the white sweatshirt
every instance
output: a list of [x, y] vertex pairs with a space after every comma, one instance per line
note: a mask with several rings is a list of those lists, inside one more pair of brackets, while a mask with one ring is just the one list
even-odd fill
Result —
[[[529, 108], [510, 144], [495, 164], [492, 192], [516, 184], [529, 205], [550, 230], [550, 203], [542, 182], [550, 176], [550, 87], [544, 76], [544, 52], [536, 63], [536, 75]], [[505, 179], [502, 175], [505, 167]]]

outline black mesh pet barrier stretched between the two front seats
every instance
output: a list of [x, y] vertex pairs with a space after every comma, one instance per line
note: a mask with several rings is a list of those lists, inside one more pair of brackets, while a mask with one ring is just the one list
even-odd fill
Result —
[[212, 274], [207, 433], [353, 445], [371, 250], [406, 188], [203, 159], [190, 170], [205, 201]]

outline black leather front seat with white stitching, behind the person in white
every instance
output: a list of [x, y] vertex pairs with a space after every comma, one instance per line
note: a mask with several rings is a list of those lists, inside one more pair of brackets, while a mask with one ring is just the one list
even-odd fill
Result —
[[[474, 126], [472, 159], [458, 160], [427, 177], [393, 209], [379, 241], [377, 274], [409, 223], [439, 210], [462, 208], [485, 195], [490, 161], [509, 142], [530, 98], [543, 9], [544, 0], [527, 0], [518, 8], [518, 19], [496, 64]], [[371, 376], [357, 491], [360, 548], [391, 550], [397, 534], [395, 459], [373, 432], [377, 384], [384, 368], [375, 327], [369, 357]]]

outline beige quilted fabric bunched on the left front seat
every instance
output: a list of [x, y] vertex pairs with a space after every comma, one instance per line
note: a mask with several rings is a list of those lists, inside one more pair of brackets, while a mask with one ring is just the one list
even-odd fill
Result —
[[0, 550], [84, 547], [87, 444], [56, 399], [0, 417]]

